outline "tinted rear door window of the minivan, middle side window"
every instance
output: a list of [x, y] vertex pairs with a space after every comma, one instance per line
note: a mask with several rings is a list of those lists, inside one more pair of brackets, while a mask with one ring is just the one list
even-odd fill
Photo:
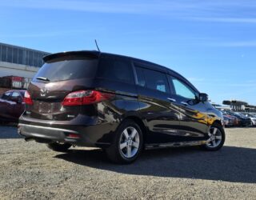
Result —
[[166, 93], [170, 92], [166, 74], [155, 70], [144, 69], [138, 66], [136, 66], [135, 69], [139, 86], [146, 86], [147, 88]]

